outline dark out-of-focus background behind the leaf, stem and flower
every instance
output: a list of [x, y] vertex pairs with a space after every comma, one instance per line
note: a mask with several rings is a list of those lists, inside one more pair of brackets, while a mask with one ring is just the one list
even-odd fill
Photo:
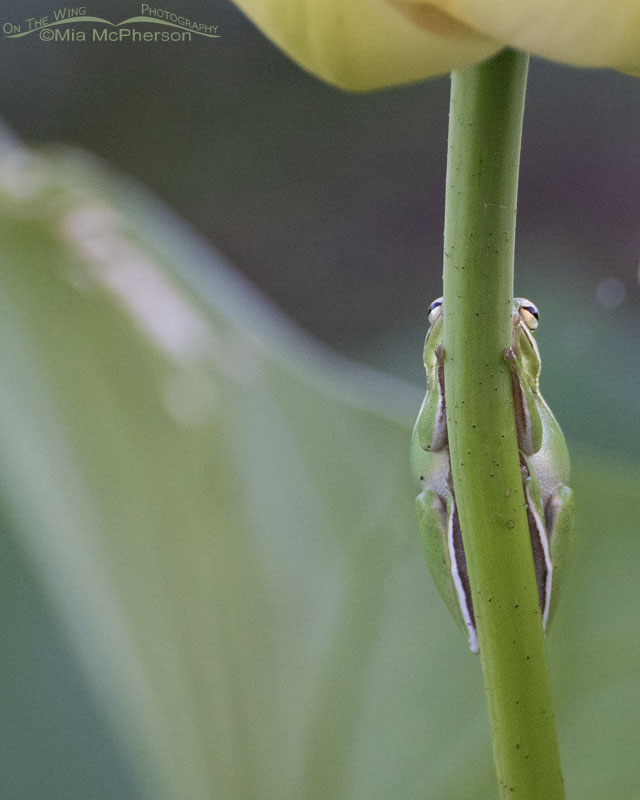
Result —
[[[45, 6], [7, 0], [2, 22]], [[4, 123], [29, 145], [98, 155], [302, 328], [422, 387], [426, 308], [441, 293], [448, 77], [348, 95], [229, 2], [170, 10], [219, 25], [221, 38], [2, 38]], [[112, 0], [87, 13], [117, 22], [139, 8]], [[540, 307], [542, 388], [570, 446], [612, 462], [640, 444], [638, 130], [637, 79], [532, 61], [515, 291]], [[1, 547], [3, 616], [15, 621], [0, 628], [3, 797], [137, 797], [19, 552], [7, 537]], [[61, 763], [52, 794], [46, 776]]]

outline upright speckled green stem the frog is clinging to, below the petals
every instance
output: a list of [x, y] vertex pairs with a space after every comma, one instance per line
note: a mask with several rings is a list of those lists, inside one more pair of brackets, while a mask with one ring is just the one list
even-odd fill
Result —
[[502, 798], [564, 798], [504, 349], [528, 57], [454, 72], [445, 212], [451, 471]]

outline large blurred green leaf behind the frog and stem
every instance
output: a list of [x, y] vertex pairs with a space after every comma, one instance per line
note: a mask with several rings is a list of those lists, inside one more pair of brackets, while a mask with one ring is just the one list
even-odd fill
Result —
[[[0, 190], [1, 500], [149, 797], [494, 796], [479, 662], [419, 547], [415, 390], [86, 157], [6, 150]], [[568, 794], [632, 798], [639, 469], [574, 461]]]

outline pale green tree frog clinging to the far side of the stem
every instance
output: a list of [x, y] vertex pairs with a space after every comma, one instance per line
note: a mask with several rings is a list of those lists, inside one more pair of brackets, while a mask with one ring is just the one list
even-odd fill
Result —
[[[478, 638], [451, 480], [444, 395], [442, 298], [429, 308], [424, 346], [427, 393], [411, 439], [411, 462], [421, 486], [417, 498], [427, 564], [454, 619], [478, 650]], [[546, 627], [571, 556], [573, 493], [569, 454], [560, 427], [540, 394], [540, 354], [533, 338], [538, 311], [529, 300], [513, 301], [513, 339], [504, 352], [511, 369], [522, 485], [527, 503], [542, 621]]]

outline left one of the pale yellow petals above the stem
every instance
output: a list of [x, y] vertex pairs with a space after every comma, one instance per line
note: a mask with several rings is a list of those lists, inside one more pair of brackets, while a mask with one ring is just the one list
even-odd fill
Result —
[[237, 0], [302, 67], [343, 89], [428, 78], [502, 49], [446, 11], [386, 0]]

